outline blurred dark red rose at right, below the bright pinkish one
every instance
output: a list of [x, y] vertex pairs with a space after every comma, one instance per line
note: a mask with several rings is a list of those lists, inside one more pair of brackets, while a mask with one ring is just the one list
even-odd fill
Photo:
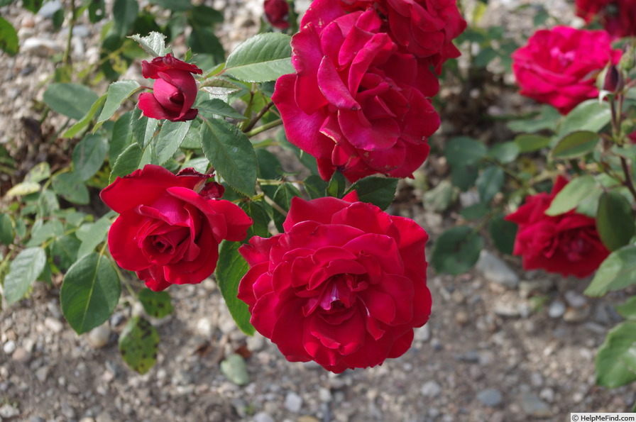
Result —
[[519, 225], [513, 253], [522, 256], [525, 270], [543, 268], [582, 278], [598, 269], [610, 253], [598, 237], [594, 218], [574, 210], [558, 216], [545, 214], [567, 182], [559, 176], [552, 193], [528, 196], [525, 204], [505, 218]]

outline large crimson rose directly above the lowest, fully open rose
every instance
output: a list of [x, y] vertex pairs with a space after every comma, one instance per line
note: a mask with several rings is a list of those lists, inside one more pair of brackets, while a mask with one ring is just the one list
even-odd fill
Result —
[[272, 99], [287, 138], [317, 158], [325, 180], [335, 170], [351, 182], [375, 173], [411, 177], [439, 127], [426, 98], [437, 93], [437, 78], [397, 51], [373, 9], [328, 22], [294, 35], [297, 73], [276, 81]]

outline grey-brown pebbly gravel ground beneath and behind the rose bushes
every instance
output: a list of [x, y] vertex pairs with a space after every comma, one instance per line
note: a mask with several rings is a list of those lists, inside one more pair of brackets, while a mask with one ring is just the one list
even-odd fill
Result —
[[[490, 3], [492, 20], [518, 2]], [[257, 0], [214, 5], [228, 18], [220, 28], [226, 45], [256, 29]], [[552, 6], [566, 10], [563, 2]], [[63, 35], [16, 6], [0, 13], [20, 29], [23, 43], [20, 55], [0, 60], [0, 143], [7, 143], [28, 139], [18, 122], [39, 117], [53, 72], [48, 57], [61, 48]], [[74, 55], [90, 62], [96, 52], [89, 40], [99, 28], [86, 29], [74, 38]], [[40, 41], [41, 50], [28, 50], [28, 38], [53, 43]], [[133, 67], [127, 77], [138, 72]], [[43, 131], [61, 122], [48, 118]], [[31, 148], [24, 159], [42, 156]], [[443, 167], [434, 157], [427, 165]], [[434, 241], [453, 219], [423, 209], [419, 189], [401, 187], [405, 201], [393, 212], [414, 218]], [[429, 270], [433, 313], [416, 331], [412, 348], [380, 367], [334, 375], [312, 363], [287, 362], [269, 340], [243, 335], [209, 279], [170, 289], [175, 312], [151, 319], [161, 343], [157, 365], [143, 376], [129, 370], [117, 350], [129, 314], [143, 310], [131, 311], [124, 296], [104, 326], [78, 336], [60, 312], [59, 288], [38, 283], [30, 298], [0, 313], [0, 420], [496, 422], [627, 411], [635, 387], [594, 385], [596, 349], [619, 321], [613, 304], [625, 295], [586, 298], [581, 292], [588, 282], [522, 272], [518, 260], [487, 250], [468, 274]], [[243, 386], [220, 369], [234, 352], [246, 357], [249, 382]]]

